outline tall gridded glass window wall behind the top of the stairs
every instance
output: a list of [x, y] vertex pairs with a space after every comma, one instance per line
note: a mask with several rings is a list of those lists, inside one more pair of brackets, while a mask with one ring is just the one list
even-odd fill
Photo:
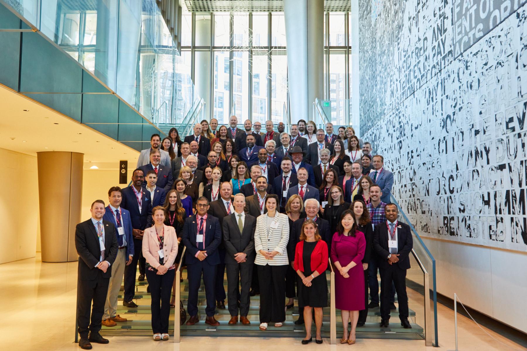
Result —
[[[344, 12], [324, 16], [325, 94], [321, 98], [331, 101], [334, 123], [349, 124], [350, 16]], [[200, 23], [204, 17], [210, 18], [210, 25]], [[240, 124], [245, 119], [272, 119], [275, 124], [285, 121], [289, 93], [283, 13], [183, 14], [181, 45], [185, 61], [192, 61], [196, 90], [209, 92], [200, 95], [210, 118], [217, 118], [219, 124], [228, 124], [231, 115], [236, 115]], [[204, 68], [204, 63], [210, 64], [207, 82], [202, 71], [209, 68]]]

